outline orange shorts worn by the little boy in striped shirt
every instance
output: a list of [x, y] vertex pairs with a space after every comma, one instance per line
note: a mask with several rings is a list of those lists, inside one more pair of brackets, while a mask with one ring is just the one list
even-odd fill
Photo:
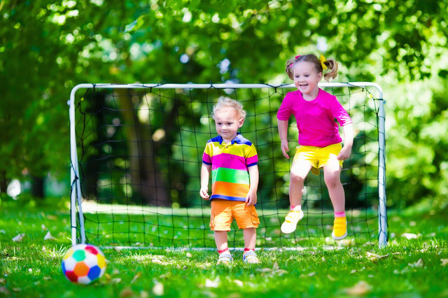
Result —
[[210, 229], [212, 231], [230, 231], [234, 218], [239, 229], [260, 225], [255, 206], [246, 206], [245, 201], [211, 200]]

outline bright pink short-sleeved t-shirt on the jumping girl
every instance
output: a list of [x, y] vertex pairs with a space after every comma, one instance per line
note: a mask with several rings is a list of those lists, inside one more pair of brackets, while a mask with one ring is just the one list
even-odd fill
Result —
[[341, 143], [337, 122], [341, 126], [351, 123], [349, 113], [337, 98], [320, 88], [316, 99], [311, 101], [306, 101], [299, 90], [288, 92], [277, 112], [277, 119], [289, 120], [291, 114], [297, 121], [302, 146], [326, 147]]

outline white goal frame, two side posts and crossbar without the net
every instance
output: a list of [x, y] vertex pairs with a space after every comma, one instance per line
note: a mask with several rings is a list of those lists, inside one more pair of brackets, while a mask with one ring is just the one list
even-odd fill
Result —
[[[71, 159], [71, 242], [85, 243], [85, 222], [82, 209], [82, 192], [80, 185], [80, 171], [78, 167], [78, 153], [76, 143], [76, 92], [81, 89], [222, 89], [236, 90], [248, 88], [294, 88], [293, 84], [109, 84], [109, 83], [83, 83], [71, 90], [69, 105], [70, 120], [70, 159]], [[384, 247], [388, 241], [388, 227], [386, 214], [386, 153], [385, 153], [385, 111], [383, 90], [376, 83], [319, 83], [319, 87], [373, 87], [378, 92], [378, 241], [379, 247]], [[80, 239], [77, 239], [79, 234]]]

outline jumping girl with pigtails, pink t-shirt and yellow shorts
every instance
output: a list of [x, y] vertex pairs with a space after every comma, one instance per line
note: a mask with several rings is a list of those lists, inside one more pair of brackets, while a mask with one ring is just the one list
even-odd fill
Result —
[[[323, 71], [325, 75], [323, 75]], [[353, 145], [353, 125], [349, 114], [342, 108], [336, 97], [321, 90], [318, 82], [322, 76], [325, 80], [337, 76], [337, 63], [334, 59], [326, 60], [321, 55], [296, 56], [286, 62], [286, 73], [297, 91], [288, 92], [283, 99], [277, 120], [281, 139], [281, 152], [288, 156], [288, 120], [293, 114], [299, 129], [299, 147], [295, 151], [291, 166], [289, 201], [290, 211], [281, 232], [289, 234], [295, 231], [297, 222], [303, 218], [302, 194], [304, 179], [308, 172], [318, 174], [323, 168], [325, 185], [335, 210], [335, 222], [332, 238], [344, 239], [347, 235], [345, 217], [345, 194], [340, 180], [342, 162], [350, 157]], [[339, 136], [337, 122], [344, 132], [344, 147]]]

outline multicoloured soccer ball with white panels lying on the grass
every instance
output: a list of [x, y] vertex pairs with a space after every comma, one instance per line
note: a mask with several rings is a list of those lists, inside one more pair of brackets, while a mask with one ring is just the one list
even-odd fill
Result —
[[72, 283], [85, 285], [97, 281], [106, 271], [106, 258], [97, 246], [77, 244], [62, 259], [62, 273]]

